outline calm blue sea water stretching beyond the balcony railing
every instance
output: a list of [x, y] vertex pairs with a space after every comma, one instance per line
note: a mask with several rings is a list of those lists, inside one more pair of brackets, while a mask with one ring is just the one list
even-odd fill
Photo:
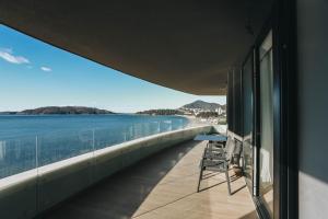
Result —
[[179, 116], [2, 115], [0, 178], [188, 124]]

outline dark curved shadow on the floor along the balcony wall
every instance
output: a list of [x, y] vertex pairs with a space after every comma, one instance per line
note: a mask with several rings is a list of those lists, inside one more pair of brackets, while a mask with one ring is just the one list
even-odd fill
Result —
[[83, 191], [40, 218], [131, 218], [156, 184], [199, 142], [161, 151]]

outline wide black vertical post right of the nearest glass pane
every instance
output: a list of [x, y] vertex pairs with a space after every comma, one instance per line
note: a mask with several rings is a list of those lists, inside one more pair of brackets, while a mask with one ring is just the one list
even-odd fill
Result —
[[[296, 2], [277, 0], [273, 5], [273, 71], [276, 147], [274, 214], [298, 218]], [[276, 161], [274, 161], [276, 162]], [[278, 218], [278, 217], [277, 217]]]

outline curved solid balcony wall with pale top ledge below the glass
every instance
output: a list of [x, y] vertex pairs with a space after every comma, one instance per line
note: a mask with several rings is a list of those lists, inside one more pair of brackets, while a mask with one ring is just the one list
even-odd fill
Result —
[[35, 217], [145, 157], [212, 130], [198, 126], [157, 134], [1, 178], [0, 218]]

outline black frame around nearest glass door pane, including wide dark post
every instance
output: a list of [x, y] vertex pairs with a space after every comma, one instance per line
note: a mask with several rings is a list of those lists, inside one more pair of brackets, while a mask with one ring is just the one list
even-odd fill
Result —
[[[260, 148], [259, 51], [258, 47], [272, 30], [273, 49], [273, 217], [298, 218], [298, 160], [297, 160], [297, 69], [296, 69], [296, 3], [277, 0], [272, 15], [266, 22], [255, 43], [254, 114], [255, 152]], [[246, 61], [246, 59], [245, 59]], [[255, 163], [259, 170], [259, 161]], [[259, 174], [255, 175], [258, 185]], [[258, 187], [254, 196], [259, 216], [268, 218]]]

